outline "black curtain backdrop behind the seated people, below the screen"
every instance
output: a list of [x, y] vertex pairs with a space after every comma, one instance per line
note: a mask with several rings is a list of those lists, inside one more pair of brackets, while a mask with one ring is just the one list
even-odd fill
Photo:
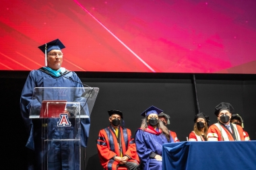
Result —
[[[196, 114], [193, 75], [178, 73], [82, 73], [83, 83], [99, 87], [98, 98], [91, 115], [90, 137], [83, 169], [102, 169], [96, 150], [100, 129], [109, 125], [107, 110], [121, 110], [125, 126], [133, 136], [141, 124], [141, 112], [155, 105], [170, 115], [168, 128], [185, 141], [193, 130]], [[20, 116], [20, 94], [28, 71], [1, 71], [2, 148], [8, 169], [26, 169], [26, 140]], [[216, 122], [214, 108], [225, 101], [245, 121], [245, 130], [256, 140], [256, 77], [255, 75], [197, 74], [196, 87], [200, 111]], [[84, 153], [84, 151], [83, 151]], [[5, 160], [4, 159], [4, 160]], [[84, 163], [84, 162], [83, 162]]]

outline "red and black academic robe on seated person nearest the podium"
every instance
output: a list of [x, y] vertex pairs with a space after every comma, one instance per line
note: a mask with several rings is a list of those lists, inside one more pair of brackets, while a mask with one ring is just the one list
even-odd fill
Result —
[[[135, 141], [131, 136], [131, 130], [128, 128], [119, 127], [123, 156], [127, 155], [131, 159], [128, 161], [139, 164]], [[114, 157], [120, 157], [119, 144], [115, 132], [110, 128], [100, 130], [97, 140], [98, 155], [100, 163], [104, 169], [116, 170], [119, 163], [114, 160]]]

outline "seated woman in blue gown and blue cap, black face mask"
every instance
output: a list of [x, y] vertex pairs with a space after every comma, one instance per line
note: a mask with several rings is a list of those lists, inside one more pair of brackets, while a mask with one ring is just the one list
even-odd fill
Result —
[[154, 105], [144, 111], [141, 116], [145, 119], [135, 134], [137, 153], [145, 170], [162, 169], [162, 144], [174, 142], [166, 126], [158, 120], [161, 112]]

